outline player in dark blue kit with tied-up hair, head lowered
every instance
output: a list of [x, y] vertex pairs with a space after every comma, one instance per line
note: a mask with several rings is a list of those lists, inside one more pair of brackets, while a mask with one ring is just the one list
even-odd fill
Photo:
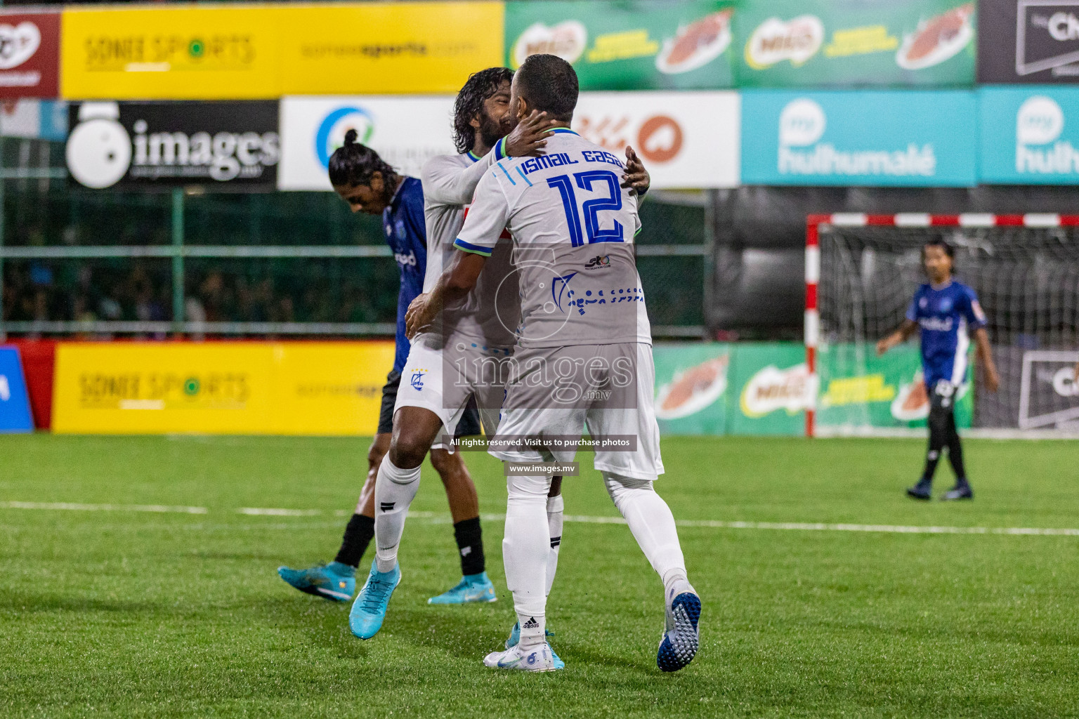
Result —
[[[423, 276], [427, 268], [427, 233], [423, 215], [423, 186], [414, 177], [402, 177], [379, 156], [377, 152], [356, 142], [356, 130], [345, 135], [344, 147], [330, 157], [330, 182], [338, 195], [353, 212], [381, 215], [386, 244], [394, 251], [400, 268], [401, 286], [397, 298], [397, 347], [394, 367], [382, 388], [382, 409], [379, 429], [367, 455], [367, 481], [359, 494], [359, 501], [345, 527], [341, 549], [333, 562], [308, 569], [279, 567], [277, 573], [296, 589], [327, 599], [346, 602], [356, 587], [356, 567], [374, 536], [374, 482], [379, 465], [390, 450], [393, 431], [394, 404], [401, 369], [409, 354], [405, 336], [405, 312], [423, 291]], [[479, 415], [469, 409], [457, 425], [459, 435], [481, 433]], [[479, 500], [472, 476], [460, 454], [445, 448], [432, 448], [431, 464], [442, 478], [446, 496], [453, 515], [454, 537], [461, 553], [461, 571], [466, 577], [481, 577], [488, 585], [482, 600], [494, 602], [494, 586], [487, 579], [483, 541], [479, 524]], [[474, 582], [475, 583], [475, 582]], [[447, 593], [440, 597], [456, 597]], [[479, 600], [479, 599], [468, 599]]]

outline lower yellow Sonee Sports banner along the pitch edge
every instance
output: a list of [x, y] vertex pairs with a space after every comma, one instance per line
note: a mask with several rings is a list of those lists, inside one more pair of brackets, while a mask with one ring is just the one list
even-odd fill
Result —
[[393, 342], [62, 343], [57, 433], [366, 435]]

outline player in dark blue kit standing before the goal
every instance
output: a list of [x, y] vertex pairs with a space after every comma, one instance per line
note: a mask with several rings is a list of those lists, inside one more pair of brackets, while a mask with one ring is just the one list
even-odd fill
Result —
[[955, 486], [943, 499], [972, 499], [974, 496], [962, 465], [962, 446], [955, 427], [955, 400], [967, 378], [970, 334], [974, 335], [978, 359], [985, 370], [986, 389], [995, 392], [1000, 384], [985, 333], [985, 313], [974, 291], [952, 278], [954, 258], [955, 250], [943, 239], [926, 243], [921, 248], [921, 263], [929, 284], [914, 293], [903, 324], [877, 343], [877, 354], [883, 355], [915, 331], [921, 334], [921, 368], [929, 393], [929, 452], [921, 479], [906, 490], [915, 499], [931, 497], [933, 472], [945, 446], [955, 471]]

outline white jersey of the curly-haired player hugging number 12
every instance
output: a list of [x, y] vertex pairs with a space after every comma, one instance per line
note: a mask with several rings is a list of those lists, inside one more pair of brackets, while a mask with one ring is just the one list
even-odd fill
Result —
[[[501, 143], [500, 143], [501, 147]], [[500, 155], [501, 156], [501, 155]], [[423, 291], [434, 289], [453, 250], [453, 240], [464, 223], [476, 185], [495, 158], [473, 153], [438, 155], [423, 166], [423, 213], [427, 225], [427, 269]], [[484, 346], [511, 347], [520, 321], [517, 276], [510, 265], [510, 244], [504, 239], [494, 250], [479, 282], [461, 302], [442, 312], [442, 332], [423, 333], [418, 341], [441, 346], [451, 335], [467, 337]]]

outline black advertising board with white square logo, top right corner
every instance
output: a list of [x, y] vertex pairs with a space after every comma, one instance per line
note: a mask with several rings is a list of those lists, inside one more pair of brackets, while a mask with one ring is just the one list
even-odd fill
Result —
[[980, 0], [978, 82], [1079, 83], [1079, 1]]

